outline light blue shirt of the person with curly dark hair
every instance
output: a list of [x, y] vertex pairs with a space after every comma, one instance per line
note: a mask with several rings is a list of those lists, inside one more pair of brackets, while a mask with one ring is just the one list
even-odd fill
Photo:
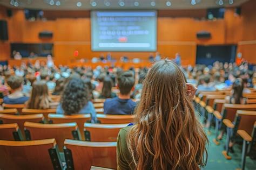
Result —
[[[56, 109], [56, 114], [64, 114], [64, 110], [62, 109], [62, 104], [59, 103], [57, 109]], [[91, 101], [89, 101], [79, 112], [78, 114], [91, 114], [91, 121], [92, 123], [97, 122], [97, 117], [96, 117], [96, 110], [92, 104]]]

